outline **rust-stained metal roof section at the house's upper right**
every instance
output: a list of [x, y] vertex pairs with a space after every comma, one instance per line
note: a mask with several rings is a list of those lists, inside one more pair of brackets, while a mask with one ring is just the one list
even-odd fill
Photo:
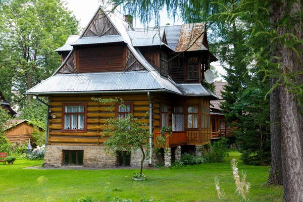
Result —
[[181, 26], [175, 52], [208, 50], [204, 23], [191, 23]]

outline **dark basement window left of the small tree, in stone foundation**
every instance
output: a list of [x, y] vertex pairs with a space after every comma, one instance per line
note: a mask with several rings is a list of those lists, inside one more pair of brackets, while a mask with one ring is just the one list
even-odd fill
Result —
[[62, 150], [64, 166], [82, 166], [83, 165], [83, 150]]

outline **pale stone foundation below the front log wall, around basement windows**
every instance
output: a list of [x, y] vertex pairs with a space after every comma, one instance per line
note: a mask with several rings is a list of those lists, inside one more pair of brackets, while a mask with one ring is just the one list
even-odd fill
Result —
[[[83, 150], [83, 167], [88, 168], [114, 168], [117, 164], [117, 157], [106, 154], [103, 146], [66, 146], [66, 145], [47, 145], [44, 156], [44, 167], [59, 168], [63, 162], [62, 150]], [[130, 166], [140, 167], [141, 150], [131, 152]], [[147, 167], [149, 159], [145, 159], [143, 166]], [[155, 165], [155, 161], [152, 162]], [[71, 167], [71, 166], [70, 166]]]

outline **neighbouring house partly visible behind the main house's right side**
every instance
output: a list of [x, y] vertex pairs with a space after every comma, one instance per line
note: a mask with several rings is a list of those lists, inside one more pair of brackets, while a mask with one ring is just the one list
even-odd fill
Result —
[[222, 114], [220, 105], [224, 102], [222, 91], [227, 82], [216, 82], [216, 95], [218, 99], [211, 100], [211, 138], [220, 139], [222, 137], [231, 136], [231, 128], [225, 122], [224, 114]]

